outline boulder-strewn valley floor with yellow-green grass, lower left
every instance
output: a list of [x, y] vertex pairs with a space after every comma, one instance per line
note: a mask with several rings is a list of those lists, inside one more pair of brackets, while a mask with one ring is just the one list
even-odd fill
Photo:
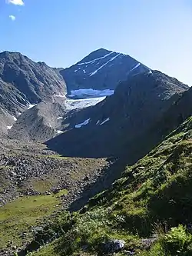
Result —
[[0, 255], [25, 248], [35, 228], [81, 198], [109, 165], [32, 142], [1, 140], [0, 147]]

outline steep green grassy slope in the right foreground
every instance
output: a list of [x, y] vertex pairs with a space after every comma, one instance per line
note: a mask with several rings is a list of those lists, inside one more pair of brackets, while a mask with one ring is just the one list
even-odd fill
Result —
[[188, 118], [150, 154], [127, 167], [108, 191], [80, 212], [62, 214], [57, 224], [61, 238], [33, 255], [92, 255], [111, 238], [124, 239], [125, 249], [134, 255], [192, 255], [191, 152]]

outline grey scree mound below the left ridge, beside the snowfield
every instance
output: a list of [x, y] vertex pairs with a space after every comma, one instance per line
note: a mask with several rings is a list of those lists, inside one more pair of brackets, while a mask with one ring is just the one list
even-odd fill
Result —
[[18, 118], [8, 136], [22, 141], [47, 141], [61, 133], [63, 115], [65, 105], [53, 100], [41, 101]]

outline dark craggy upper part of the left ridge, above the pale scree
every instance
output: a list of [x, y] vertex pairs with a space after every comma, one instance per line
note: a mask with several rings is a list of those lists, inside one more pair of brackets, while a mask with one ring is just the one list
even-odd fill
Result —
[[66, 91], [65, 81], [55, 68], [44, 62], [32, 62], [18, 52], [0, 54], [0, 77], [21, 91], [31, 104], [54, 94], [65, 95]]

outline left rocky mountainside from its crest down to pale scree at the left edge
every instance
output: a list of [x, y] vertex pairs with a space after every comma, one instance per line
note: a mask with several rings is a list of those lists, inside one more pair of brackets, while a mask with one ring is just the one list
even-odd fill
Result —
[[31, 104], [65, 95], [65, 81], [55, 68], [32, 62], [18, 52], [0, 53], [0, 134], [7, 134]]

